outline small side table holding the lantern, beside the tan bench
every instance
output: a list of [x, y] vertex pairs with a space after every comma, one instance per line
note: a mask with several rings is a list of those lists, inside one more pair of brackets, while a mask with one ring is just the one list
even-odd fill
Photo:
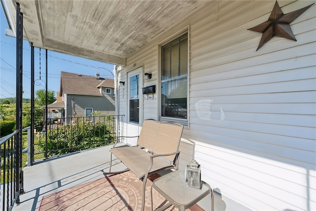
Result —
[[153, 211], [153, 188], [157, 190], [169, 203], [156, 209], [156, 211], [163, 211], [171, 205], [178, 208], [180, 211], [185, 211], [197, 204], [211, 192], [211, 210], [214, 210], [213, 190], [206, 183], [203, 182], [202, 189], [189, 187], [184, 179], [184, 171], [175, 170], [167, 173], [154, 180], [151, 187], [151, 203]]

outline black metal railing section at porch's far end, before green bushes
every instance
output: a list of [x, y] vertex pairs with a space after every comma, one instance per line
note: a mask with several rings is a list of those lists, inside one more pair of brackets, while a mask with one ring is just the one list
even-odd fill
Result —
[[93, 116], [47, 119], [35, 135], [34, 160], [109, 145], [123, 128], [123, 116]]

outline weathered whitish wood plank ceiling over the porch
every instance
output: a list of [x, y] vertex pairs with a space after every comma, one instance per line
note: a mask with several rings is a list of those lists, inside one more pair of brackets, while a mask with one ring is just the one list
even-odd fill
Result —
[[[191, 16], [206, 0], [12, 0], [35, 47], [125, 65], [126, 57]], [[13, 34], [15, 26], [11, 24]]]

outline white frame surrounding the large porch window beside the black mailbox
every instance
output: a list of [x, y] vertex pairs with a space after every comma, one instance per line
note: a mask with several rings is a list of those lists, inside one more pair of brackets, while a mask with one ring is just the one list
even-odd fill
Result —
[[173, 121], [180, 123], [184, 126], [187, 126], [189, 129], [189, 122], [190, 122], [190, 104], [189, 104], [189, 84], [190, 84], [190, 26], [184, 27], [182, 30], [180, 30], [178, 33], [169, 36], [167, 39], [163, 40], [162, 42], [158, 43], [158, 84], [161, 87], [161, 48], [163, 45], [172, 42], [173, 40], [176, 40], [177, 38], [188, 34], [188, 74], [187, 74], [187, 119], [180, 119], [180, 118], [172, 118], [172, 117], [162, 117], [161, 116], [161, 88], [158, 88], [157, 94], [158, 94], [158, 119], [163, 121]]

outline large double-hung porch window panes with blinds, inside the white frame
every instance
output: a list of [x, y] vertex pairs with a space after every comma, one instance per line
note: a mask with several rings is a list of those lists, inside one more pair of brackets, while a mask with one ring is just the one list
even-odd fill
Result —
[[188, 34], [161, 46], [161, 118], [187, 120]]

